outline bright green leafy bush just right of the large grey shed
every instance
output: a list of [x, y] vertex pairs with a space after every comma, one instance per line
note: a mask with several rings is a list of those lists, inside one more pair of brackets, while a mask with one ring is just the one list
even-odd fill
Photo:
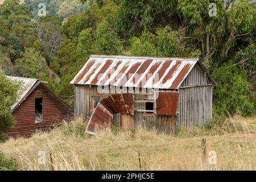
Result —
[[213, 109], [217, 114], [240, 113], [243, 117], [255, 114], [256, 93], [247, 81], [245, 71], [225, 64], [214, 72], [213, 77], [218, 84], [213, 92]]

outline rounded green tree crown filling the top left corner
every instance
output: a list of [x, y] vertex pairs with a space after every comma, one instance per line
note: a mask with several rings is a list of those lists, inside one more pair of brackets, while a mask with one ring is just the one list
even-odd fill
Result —
[[36, 40], [28, 7], [18, 0], [6, 0], [0, 5], [0, 46], [14, 63], [24, 47], [32, 46]]

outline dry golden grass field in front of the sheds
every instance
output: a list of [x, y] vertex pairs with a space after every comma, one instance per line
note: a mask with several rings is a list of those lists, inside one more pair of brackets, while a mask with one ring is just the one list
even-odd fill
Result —
[[[48, 133], [9, 139], [0, 151], [18, 159], [21, 170], [139, 170], [138, 153], [142, 170], [256, 170], [256, 118], [226, 119], [222, 129], [183, 131], [177, 137], [142, 128], [90, 136], [84, 129], [82, 119], [64, 122]], [[204, 137], [207, 154], [217, 153], [216, 165], [201, 158]], [[46, 151], [46, 165], [38, 164], [39, 151]]]

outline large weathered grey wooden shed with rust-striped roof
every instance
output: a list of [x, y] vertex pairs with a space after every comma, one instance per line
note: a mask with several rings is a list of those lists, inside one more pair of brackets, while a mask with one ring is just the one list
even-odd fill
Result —
[[174, 133], [212, 120], [215, 82], [198, 58], [91, 55], [71, 84], [89, 134], [113, 123]]

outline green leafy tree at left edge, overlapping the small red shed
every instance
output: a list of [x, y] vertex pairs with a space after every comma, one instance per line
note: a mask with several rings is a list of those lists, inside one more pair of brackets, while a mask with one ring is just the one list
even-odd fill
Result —
[[0, 70], [0, 137], [3, 137], [7, 129], [14, 126], [15, 119], [11, 115], [11, 106], [16, 102], [17, 90], [18, 84], [15, 85]]

